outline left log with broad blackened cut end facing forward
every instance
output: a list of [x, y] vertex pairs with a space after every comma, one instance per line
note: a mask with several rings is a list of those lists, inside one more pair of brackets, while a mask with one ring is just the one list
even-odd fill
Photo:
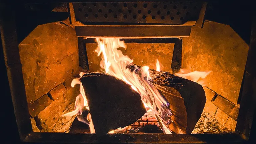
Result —
[[128, 126], [146, 113], [140, 95], [114, 76], [89, 72], [81, 82], [96, 134]]

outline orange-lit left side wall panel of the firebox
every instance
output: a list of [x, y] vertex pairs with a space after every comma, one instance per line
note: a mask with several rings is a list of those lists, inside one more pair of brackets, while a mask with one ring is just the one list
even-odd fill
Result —
[[79, 73], [76, 32], [60, 23], [37, 26], [19, 52], [28, 103]]

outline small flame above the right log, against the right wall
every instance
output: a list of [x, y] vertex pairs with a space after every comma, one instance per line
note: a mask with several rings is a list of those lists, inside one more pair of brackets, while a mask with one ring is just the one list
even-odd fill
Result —
[[197, 82], [198, 84], [205, 86], [205, 80], [204, 78], [209, 75], [212, 71], [208, 72], [201, 72], [201, 71], [193, 71], [190, 72], [186, 69], [181, 69], [178, 73], [176, 73], [176, 76], [183, 77], [185, 79]]

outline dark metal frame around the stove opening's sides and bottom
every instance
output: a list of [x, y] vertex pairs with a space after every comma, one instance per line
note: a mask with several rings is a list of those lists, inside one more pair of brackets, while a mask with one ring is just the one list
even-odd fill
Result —
[[[244, 142], [249, 139], [256, 103], [256, 17], [252, 22], [251, 42], [243, 77], [241, 105], [235, 133], [231, 134], [69, 134], [37, 133], [32, 131], [29, 118], [22, 64], [19, 59], [14, 11], [10, 5], [1, 4], [1, 39], [11, 97], [20, 139], [23, 142], [57, 143], [206, 143]], [[255, 16], [256, 13], [253, 13]]]

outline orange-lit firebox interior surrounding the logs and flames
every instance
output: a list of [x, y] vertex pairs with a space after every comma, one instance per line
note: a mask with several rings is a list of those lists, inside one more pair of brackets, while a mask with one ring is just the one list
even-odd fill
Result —
[[[137, 5], [136, 7], [134, 6], [135, 4]], [[193, 3], [194, 5], [189, 3], [135, 4], [118, 3], [117, 6], [110, 3], [70, 4], [71, 24], [73, 23], [72, 25], [75, 25], [76, 32], [72, 25], [64, 25], [67, 23], [66, 21], [44, 24], [36, 27], [19, 44], [21, 62], [24, 64], [22, 70], [29, 102], [29, 111], [32, 116], [31, 120], [33, 124], [36, 123], [36, 126], [33, 127], [37, 131], [38, 129], [36, 127], [38, 127], [39, 130], [43, 132], [69, 132], [69, 127], [72, 127], [71, 124], [74, 117], [71, 119], [60, 118], [61, 114], [64, 112], [72, 111], [70, 105], [74, 104], [74, 93], [78, 91], [78, 89], [76, 89], [72, 90], [71, 93], [68, 92], [67, 90], [69, 90], [70, 87], [68, 85], [70, 85], [72, 79], [75, 78], [74, 76], [78, 75], [78, 72], [81, 70], [89, 70], [91, 72], [102, 71], [100, 67], [101, 58], [98, 57], [95, 52], [98, 44], [90, 37], [104, 37], [105, 34], [109, 34], [108, 28], [114, 28], [109, 24], [105, 24], [106, 27], [93, 26], [92, 24], [97, 24], [97, 22], [139, 22], [154, 23], [155, 25], [150, 26], [151, 28], [157, 28], [158, 26], [156, 24], [159, 23], [175, 24], [176, 27], [174, 26], [173, 29], [177, 32], [180, 31], [177, 34], [180, 35], [181, 40], [175, 38], [177, 35], [174, 33], [170, 33], [169, 36], [164, 36], [160, 33], [145, 33], [144, 38], [150, 38], [152, 34], [157, 35], [153, 37], [173, 37], [169, 38], [169, 40], [166, 38], [162, 38], [162, 40], [161, 38], [151, 38], [151, 40], [149, 39], [147, 41], [134, 39], [141, 38], [141, 36], [139, 36], [140, 34], [138, 34], [139, 32], [134, 33], [135, 35], [138, 34], [136, 37], [133, 37], [134, 34], [130, 35], [129, 32], [120, 34], [114, 32], [114, 35], [121, 38], [126, 38], [127, 36], [129, 36], [128, 38], [133, 38], [124, 39], [125, 42], [127, 42], [127, 49], [118, 49], [124, 55], [131, 58], [133, 63], [141, 66], [147, 65], [151, 69], [156, 69], [156, 61], [158, 60], [160, 62], [160, 70], [170, 71], [172, 74], [178, 73], [181, 68], [187, 69], [190, 72], [213, 71], [209, 76], [204, 78], [206, 83], [204, 90], [207, 102], [203, 115], [199, 120], [201, 124], [197, 124], [193, 133], [234, 131], [239, 110], [239, 105], [237, 105], [238, 92], [242, 82], [248, 45], [229, 28], [229, 26], [211, 21], [205, 21], [202, 28], [196, 26], [196, 22], [193, 22], [193, 20], [197, 20], [197, 18], [201, 17], [199, 13], [200, 7], [202, 7], [203, 10], [204, 4], [202, 3]], [[168, 12], [170, 8], [172, 11]], [[72, 13], [72, 10], [74, 13]], [[96, 14], [91, 15], [91, 11], [94, 10], [97, 10]], [[138, 12], [136, 18], [130, 18], [130, 15], [135, 15], [136, 12]], [[104, 13], [108, 13], [107, 18]], [[118, 13], [117, 17], [120, 18], [116, 19], [112, 17], [112, 13]], [[72, 21], [72, 14], [75, 15], [75, 22]], [[127, 15], [129, 18], [124, 18], [123, 15]], [[140, 19], [140, 15], [145, 15], [146, 18]], [[158, 18], [161, 18], [161, 16], [159, 17], [158, 15], [165, 17], [165, 19], [162, 19], [160, 22]], [[168, 19], [167, 16], [171, 15], [175, 17]], [[151, 19], [153, 16], [157, 17]], [[183, 18], [182, 20], [181, 17]], [[82, 24], [78, 24], [78, 22]], [[184, 25], [184, 23], [186, 24]], [[88, 24], [90, 27], [87, 26]], [[185, 36], [182, 38], [181, 29], [183, 29], [183, 27], [191, 28], [191, 32], [189, 32], [190, 34], [188, 35], [189, 37]], [[212, 27], [219, 31], [212, 31]], [[96, 32], [98, 32], [98, 34], [96, 34], [91, 31], [94, 30], [94, 28], [106, 29], [107, 31], [100, 32], [95, 29]], [[118, 27], [115, 28], [118, 29]], [[113, 30], [115, 30], [115, 28]], [[129, 30], [130, 28], [133, 29], [133, 26], [125, 27], [124, 25], [122, 29], [123, 28]], [[138, 28], [140, 29], [140, 27]], [[149, 27], [146, 26], [145, 28]], [[62, 31], [59, 31], [59, 29], [62, 29]], [[84, 33], [84, 31], [87, 33]], [[168, 30], [166, 31], [168, 32]], [[124, 34], [127, 36], [124, 36]], [[65, 37], [65, 41], [63, 41], [63, 36]], [[86, 36], [90, 39], [78, 38], [77, 42], [77, 36]], [[46, 39], [42, 39], [43, 37], [46, 37]], [[214, 39], [214, 41], [212, 39]], [[224, 41], [229, 41], [229, 43], [224, 43]], [[49, 47], [51, 47], [51, 55], [49, 55]], [[66, 49], [67, 47], [68, 50]], [[230, 47], [233, 47], [233, 52]], [[226, 49], [228, 49], [227, 53], [225, 52]], [[238, 57], [240, 57], [239, 59], [243, 59], [243, 61], [237, 61], [234, 64], [228, 63], [229, 60], [235, 60]], [[56, 75], [58, 76], [56, 77]], [[58, 82], [57, 87], [56, 82]], [[63, 102], [65, 103], [64, 106], [59, 106], [59, 104]], [[68, 109], [67, 105], [69, 107]], [[56, 109], [57, 107], [59, 108], [55, 110], [56, 114], [47, 115], [49, 109]], [[155, 121], [149, 121], [148, 115], [149, 117], [153, 117]], [[60, 123], [60, 121], [62, 122]], [[63, 125], [61, 126], [63, 127], [62, 130], [59, 129], [59, 124]], [[123, 132], [130, 132], [134, 129], [135, 133], [141, 132], [144, 129], [144, 127], [141, 126], [145, 124], [156, 125], [155, 130], [161, 128], [161, 124], [156, 115], [150, 116], [150, 114], [145, 114], [143, 119], [139, 119], [133, 126], [123, 130]], [[209, 126], [209, 124], [212, 126]], [[73, 126], [72, 128], [74, 129], [75, 127]], [[140, 131], [138, 131], [138, 129], [140, 129]], [[120, 133], [120, 131], [116, 132]]]

